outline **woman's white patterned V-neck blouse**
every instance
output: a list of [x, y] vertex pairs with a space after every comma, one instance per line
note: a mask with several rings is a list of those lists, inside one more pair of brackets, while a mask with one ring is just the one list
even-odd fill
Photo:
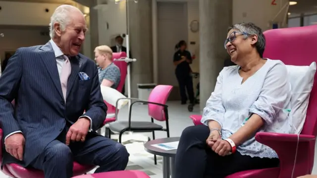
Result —
[[[204, 108], [202, 123], [208, 125], [209, 120], [217, 121], [221, 125], [221, 137], [226, 139], [253, 113], [264, 120], [258, 132], [294, 133], [288, 117], [291, 85], [285, 64], [267, 59], [243, 83], [239, 68], [237, 65], [224, 67], [219, 73], [215, 89]], [[277, 158], [275, 151], [257, 142], [254, 136], [239, 145], [237, 151], [251, 157]]]

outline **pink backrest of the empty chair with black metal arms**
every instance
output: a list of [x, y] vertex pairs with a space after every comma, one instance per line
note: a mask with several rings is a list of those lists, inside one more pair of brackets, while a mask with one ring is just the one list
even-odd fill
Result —
[[[172, 91], [173, 86], [170, 85], [158, 85], [156, 86], [150, 96], [149, 96], [149, 102], [153, 103], [159, 103], [162, 105], [166, 104], [167, 98]], [[149, 110], [149, 116], [153, 119], [159, 120], [159, 121], [165, 121], [165, 112], [164, 107], [154, 104], [148, 105]]]

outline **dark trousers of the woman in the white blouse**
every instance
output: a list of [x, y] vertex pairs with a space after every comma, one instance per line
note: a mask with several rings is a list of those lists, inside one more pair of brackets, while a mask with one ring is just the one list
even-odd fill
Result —
[[224, 178], [241, 171], [274, 168], [279, 165], [277, 158], [252, 158], [239, 152], [219, 156], [206, 144], [209, 134], [210, 130], [206, 125], [184, 129], [175, 158], [175, 178]]

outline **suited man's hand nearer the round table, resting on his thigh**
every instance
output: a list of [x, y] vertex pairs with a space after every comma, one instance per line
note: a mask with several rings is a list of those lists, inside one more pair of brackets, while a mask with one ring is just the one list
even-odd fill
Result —
[[84, 142], [89, 128], [90, 120], [88, 118], [78, 119], [72, 126], [70, 126], [66, 134], [66, 145], [69, 145], [70, 141]]

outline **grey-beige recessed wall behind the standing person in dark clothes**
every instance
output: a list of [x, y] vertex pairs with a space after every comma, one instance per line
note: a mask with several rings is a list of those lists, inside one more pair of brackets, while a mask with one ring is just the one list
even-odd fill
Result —
[[188, 41], [187, 3], [158, 2], [159, 84], [178, 86], [173, 65], [175, 45]]

